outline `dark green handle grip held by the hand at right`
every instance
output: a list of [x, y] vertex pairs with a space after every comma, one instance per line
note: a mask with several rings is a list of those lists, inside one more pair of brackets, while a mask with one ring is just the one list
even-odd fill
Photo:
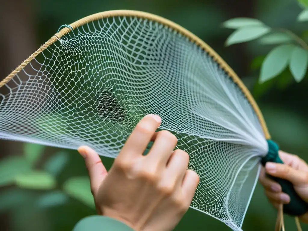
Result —
[[[283, 164], [283, 161], [278, 155], [279, 147], [272, 140], [268, 140], [269, 144], [269, 154], [265, 156], [261, 163], [265, 166], [266, 162], [275, 162]], [[272, 180], [278, 182], [282, 187], [282, 192], [290, 196], [290, 203], [283, 205], [283, 212], [291, 216], [300, 216], [308, 212], [308, 203], [302, 200], [302, 198], [295, 192], [293, 184], [288, 181], [278, 177], [267, 175]]]

